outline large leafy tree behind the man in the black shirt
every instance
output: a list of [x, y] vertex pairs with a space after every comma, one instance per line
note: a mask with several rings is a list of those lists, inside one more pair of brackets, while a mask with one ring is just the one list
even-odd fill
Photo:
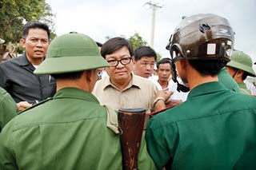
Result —
[[6, 43], [1, 48], [4, 53], [8, 43], [19, 42], [22, 37], [22, 27], [29, 21], [45, 22], [50, 26], [54, 38], [54, 14], [46, 0], [0, 0], [0, 38]]

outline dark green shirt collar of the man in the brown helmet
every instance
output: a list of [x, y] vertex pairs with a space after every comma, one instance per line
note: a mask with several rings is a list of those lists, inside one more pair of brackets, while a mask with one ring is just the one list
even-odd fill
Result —
[[208, 83], [204, 83], [202, 85], [196, 86], [194, 89], [190, 91], [187, 99], [197, 97], [197, 96], [202, 96], [205, 94], [226, 91], [226, 90], [229, 90], [229, 89], [226, 89], [226, 87], [222, 85], [220, 82], [212, 81], [212, 82], [208, 82]]

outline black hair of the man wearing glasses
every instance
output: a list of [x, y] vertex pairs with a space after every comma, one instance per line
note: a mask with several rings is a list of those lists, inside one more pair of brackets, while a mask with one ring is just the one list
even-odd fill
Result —
[[130, 57], [134, 56], [133, 46], [125, 38], [111, 38], [102, 45], [101, 54], [102, 57], [106, 58], [106, 55], [114, 53], [114, 51], [121, 49], [126, 46], [130, 52]]

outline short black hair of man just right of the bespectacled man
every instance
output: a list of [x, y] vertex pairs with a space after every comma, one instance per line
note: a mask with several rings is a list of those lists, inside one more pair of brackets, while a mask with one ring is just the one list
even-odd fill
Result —
[[139, 46], [134, 52], [135, 61], [140, 60], [142, 57], [154, 57], [154, 61], [157, 61], [157, 53], [150, 46]]

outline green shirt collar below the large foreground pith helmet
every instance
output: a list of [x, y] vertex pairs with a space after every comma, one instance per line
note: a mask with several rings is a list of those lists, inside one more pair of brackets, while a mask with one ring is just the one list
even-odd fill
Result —
[[93, 94], [77, 88], [63, 88], [58, 90], [58, 92], [54, 95], [54, 99], [60, 98], [74, 98], [82, 101], [91, 101], [99, 104], [97, 98], [94, 97]]

